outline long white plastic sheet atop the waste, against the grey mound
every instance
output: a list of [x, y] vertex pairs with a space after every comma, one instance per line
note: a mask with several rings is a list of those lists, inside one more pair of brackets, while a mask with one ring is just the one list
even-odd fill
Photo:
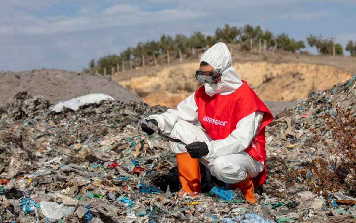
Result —
[[83, 105], [98, 104], [99, 102], [105, 100], [114, 101], [114, 98], [103, 93], [84, 95], [73, 98], [69, 101], [60, 101], [57, 105], [53, 107], [52, 111], [61, 112], [63, 108], [70, 108], [73, 111], [77, 111], [79, 107]]

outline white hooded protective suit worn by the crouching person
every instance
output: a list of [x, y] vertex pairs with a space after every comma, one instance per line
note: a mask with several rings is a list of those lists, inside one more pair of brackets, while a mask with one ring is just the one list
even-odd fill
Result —
[[[240, 77], [231, 67], [231, 54], [224, 43], [215, 44], [201, 56], [217, 70], [221, 82], [205, 83], [205, 92], [209, 96], [215, 94], [228, 95], [242, 85]], [[238, 183], [245, 179], [246, 173], [256, 177], [264, 171], [264, 163], [256, 161], [244, 150], [256, 136], [263, 119], [263, 112], [256, 111], [237, 122], [236, 129], [223, 140], [211, 140], [208, 134], [192, 122], [198, 121], [198, 106], [194, 93], [183, 100], [177, 109], [169, 109], [160, 115], [151, 115], [150, 119], [158, 122], [158, 128], [173, 138], [182, 140], [187, 145], [196, 141], [205, 142], [209, 153], [199, 161], [209, 168], [211, 174], [228, 184]], [[182, 144], [169, 142], [174, 153], [187, 152]]]

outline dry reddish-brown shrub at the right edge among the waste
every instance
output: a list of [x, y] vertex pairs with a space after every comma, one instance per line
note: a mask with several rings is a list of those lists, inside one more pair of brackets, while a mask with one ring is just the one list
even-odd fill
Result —
[[330, 114], [324, 116], [330, 138], [321, 138], [314, 133], [315, 140], [324, 144], [323, 152], [327, 154], [313, 160], [309, 168], [300, 169], [293, 173], [294, 177], [303, 180], [314, 190], [337, 192], [340, 189], [356, 196], [356, 117], [351, 111], [336, 110], [336, 117]]

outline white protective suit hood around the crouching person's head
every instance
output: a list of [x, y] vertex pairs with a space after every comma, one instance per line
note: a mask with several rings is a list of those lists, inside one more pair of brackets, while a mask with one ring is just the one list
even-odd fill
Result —
[[205, 92], [209, 96], [217, 93], [229, 94], [242, 85], [242, 81], [237, 72], [231, 67], [231, 54], [226, 44], [218, 42], [204, 52], [200, 62], [205, 61], [210, 64], [221, 76], [221, 82], [216, 84], [205, 83]]

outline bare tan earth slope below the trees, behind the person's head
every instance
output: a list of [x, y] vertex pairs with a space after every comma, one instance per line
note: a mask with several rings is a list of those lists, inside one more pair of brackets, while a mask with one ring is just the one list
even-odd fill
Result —
[[[161, 104], [174, 108], [200, 86], [194, 78], [198, 66], [198, 61], [173, 64], [161, 67], [155, 74], [152, 74], [153, 69], [148, 69], [148, 75], [145, 75], [145, 69], [138, 69], [135, 70], [135, 77], [118, 82], [137, 92], [149, 105]], [[263, 101], [290, 102], [304, 99], [312, 92], [330, 89], [351, 78], [350, 73], [331, 66], [301, 62], [250, 61], [235, 62], [232, 66]], [[141, 71], [141, 75], [138, 75], [138, 71]], [[116, 76], [120, 74], [113, 76], [114, 80]], [[271, 105], [277, 106], [277, 103]]]

